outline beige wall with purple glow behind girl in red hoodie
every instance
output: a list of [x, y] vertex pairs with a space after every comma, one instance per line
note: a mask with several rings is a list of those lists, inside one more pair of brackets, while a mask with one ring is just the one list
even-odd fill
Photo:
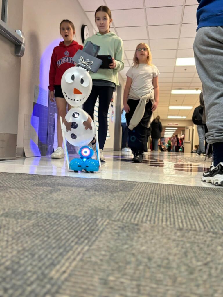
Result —
[[[26, 51], [21, 63], [21, 82], [18, 116], [18, 149], [23, 148], [25, 114], [32, 114], [35, 86], [48, 92], [48, 75], [53, 48], [62, 41], [59, 33], [61, 20], [73, 21], [76, 29], [74, 38], [81, 41], [81, 26], [93, 26], [77, 0], [24, 0], [23, 32], [26, 36]], [[48, 96], [48, 93], [47, 93]], [[47, 105], [48, 105], [48, 100]]]

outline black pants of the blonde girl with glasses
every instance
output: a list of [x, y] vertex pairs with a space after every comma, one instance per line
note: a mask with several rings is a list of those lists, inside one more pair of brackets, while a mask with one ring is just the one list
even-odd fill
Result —
[[[128, 99], [130, 111], [125, 114], [127, 125], [129, 125], [138, 103], [139, 100]], [[152, 105], [151, 100], [149, 100], [146, 103], [145, 113], [139, 124], [133, 130], [128, 129], [128, 146], [132, 150], [147, 151], [147, 126], [152, 116]]]

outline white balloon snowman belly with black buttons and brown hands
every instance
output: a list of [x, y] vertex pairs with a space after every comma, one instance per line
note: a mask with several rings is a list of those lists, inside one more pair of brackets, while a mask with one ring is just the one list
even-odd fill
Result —
[[95, 124], [86, 111], [74, 107], [71, 108], [65, 116], [63, 131], [69, 143], [74, 146], [84, 146], [94, 138]]

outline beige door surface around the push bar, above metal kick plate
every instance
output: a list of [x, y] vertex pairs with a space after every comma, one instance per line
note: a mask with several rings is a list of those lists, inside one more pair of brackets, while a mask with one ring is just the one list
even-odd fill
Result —
[[[7, 16], [7, 25], [11, 29], [21, 30], [23, 0], [9, 1]], [[15, 56], [15, 45], [1, 34], [0, 52], [0, 133], [17, 134], [20, 65], [23, 57]]]

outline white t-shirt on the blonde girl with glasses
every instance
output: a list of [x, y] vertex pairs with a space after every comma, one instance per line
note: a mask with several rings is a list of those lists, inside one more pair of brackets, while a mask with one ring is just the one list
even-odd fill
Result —
[[151, 93], [153, 90], [153, 78], [160, 74], [155, 65], [138, 64], [138, 67], [130, 67], [126, 76], [132, 79], [131, 88], [139, 96]]

